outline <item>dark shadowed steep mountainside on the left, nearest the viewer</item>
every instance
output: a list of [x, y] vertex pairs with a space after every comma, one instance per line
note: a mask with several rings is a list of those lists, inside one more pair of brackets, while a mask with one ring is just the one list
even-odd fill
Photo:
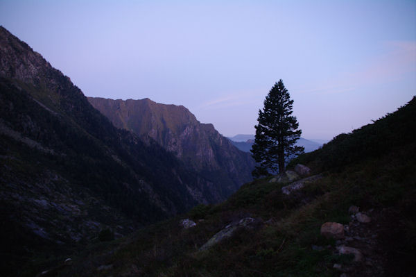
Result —
[[130, 233], [217, 201], [212, 183], [156, 142], [114, 127], [0, 26], [2, 257], [19, 264], [45, 247], [84, 246], [103, 228]]

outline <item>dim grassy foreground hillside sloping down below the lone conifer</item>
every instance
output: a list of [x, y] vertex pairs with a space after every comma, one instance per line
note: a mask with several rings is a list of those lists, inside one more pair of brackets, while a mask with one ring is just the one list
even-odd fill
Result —
[[[416, 250], [416, 143], [411, 130], [415, 104], [413, 99], [375, 124], [342, 135], [341, 144], [338, 137], [300, 157], [315, 171], [325, 171], [322, 179], [293, 197], [281, 194], [281, 184], [268, 179], [248, 183], [228, 201], [197, 206], [181, 217], [196, 220], [196, 227], [180, 228], [180, 218], [148, 226], [123, 240], [86, 249], [60, 276], [339, 276], [333, 263], [348, 263], [351, 258], [313, 251], [311, 245], [334, 244], [320, 235], [320, 226], [326, 221], [347, 224], [350, 205], [393, 211], [395, 217], [383, 221], [378, 244], [388, 255], [386, 274], [408, 276]], [[385, 126], [390, 129], [382, 130]], [[399, 133], [390, 136], [391, 131]], [[379, 135], [372, 137], [373, 133]], [[366, 139], [367, 147], [381, 141], [379, 147], [363, 150], [356, 134]], [[385, 142], [385, 134], [390, 141]], [[340, 145], [343, 148], [337, 150]], [[339, 162], [332, 160], [331, 165], [325, 160], [331, 155]], [[229, 222], [247, 216], [265, 223], [198, 251]], [[97, 271], [101, 265], [112, 267]]]

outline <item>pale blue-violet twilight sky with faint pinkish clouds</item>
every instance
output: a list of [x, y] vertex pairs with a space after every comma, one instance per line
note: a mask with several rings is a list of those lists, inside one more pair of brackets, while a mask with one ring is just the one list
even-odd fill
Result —
[[86, 96], [183, 105], [225, 136], [254, 133], [279, 79], [309, 139], [416, 95], [415, 0], [0, 0], [0, 25]]

